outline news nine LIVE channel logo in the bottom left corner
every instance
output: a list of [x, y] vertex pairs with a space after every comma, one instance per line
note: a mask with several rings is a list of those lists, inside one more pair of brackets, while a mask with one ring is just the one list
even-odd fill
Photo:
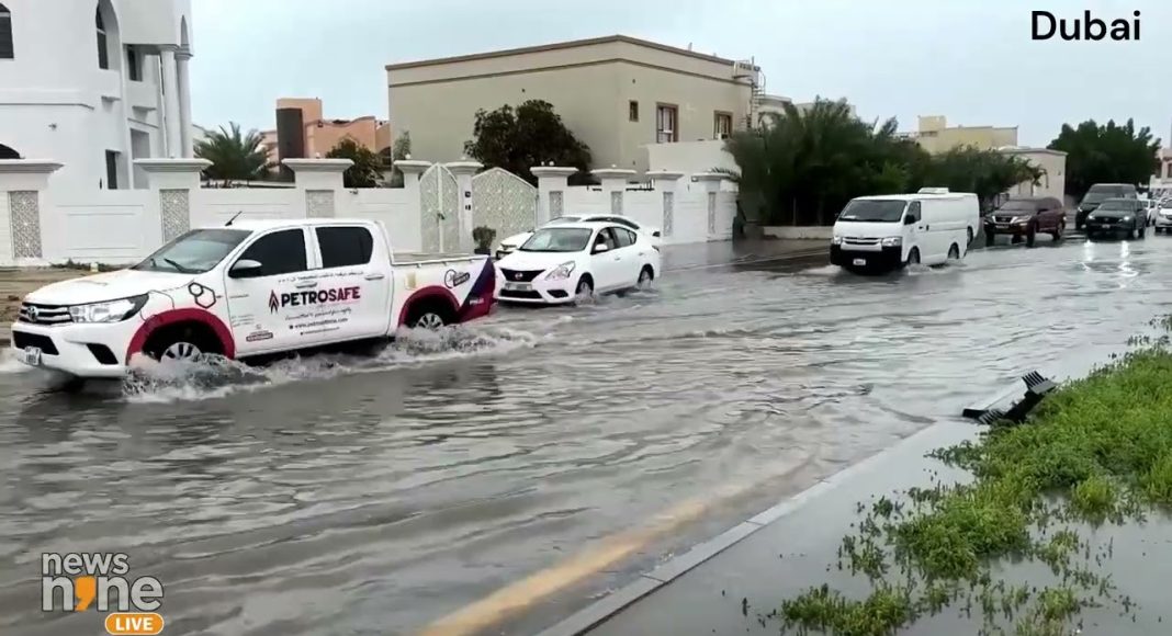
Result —
[[155, 635], [163, 631], [163, 583], [154, 576], [131, 577], [123, 553], [41, 554], [41, 609], [107, 614], [107, 634]]

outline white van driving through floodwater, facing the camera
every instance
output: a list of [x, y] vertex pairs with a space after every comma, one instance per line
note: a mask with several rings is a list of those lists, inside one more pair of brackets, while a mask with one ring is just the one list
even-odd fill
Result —
[[960, 260], [976, 234], [976, 194], [924, 189], [915, 194], [859, 197], [843, 208], [830, 262], [851, 271], [887, 271]]

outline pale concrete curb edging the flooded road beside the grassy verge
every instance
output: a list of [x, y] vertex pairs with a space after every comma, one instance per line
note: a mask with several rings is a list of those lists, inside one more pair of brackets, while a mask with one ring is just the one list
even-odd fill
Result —
[[[988, 404], [988, 406], [994, 406], [1000, 403], [1000, 399], [1008, 397], [1010, 394], [1018, 391], [1022, 385], [1021, 379], [1015, 379], [1013, 385], [1006, 387], [1003, 390], [994, 394], [995, 396], [1001, 396], [1000, 398], [990, 397], [983, 401], [982, 404]], [[669, 559], [667, 562], [661, 563], [654, 569], [640, 574], [639, 577], [619, 588], [612, 594], [606, 595], [604, 599], [595, 601], [594, 603], [587, 606], [586, 608], [572, 614], [567, 618], [556, 623], [540, 632], [537, 636], [579, 636], [588, 632], [590, 630], [605, 623], [611, 617], [615, 616], [624, 609], [633, 606], [638, 601], [642, 600], [645, 596], [659, 590], [660, 588], [667, 586], [675, 579], [687, 574], [689, 570], [700, 566], [701, 563], [713, 559], [714, 556], [721, 554], [728, 548], [735, 546], [742, 540], [749, 538], [757, 531], [769, 526], [770, 524], [799, 511], [803, 506], [810, 502], [816, 497], [819, 497], [849, 479], [853, 478], [860, 472], [865, 472], [877, 464], [883, 463], [888, 458], [888, 456], [898, 453], [904, 446], [911, 445], [913, 440], [935, 436], [939, 431], [946, 428], [948, 424], [955, 424], [956, 422], [963, 422], [966, 424], [972, 424], [974, 428], [977, 424], [969, 420], [965, 420], [960, 417], [956, 418], [941, 418], [936, 424], [933, 424], [924, 430], [917, 431], [908, 437], [900, 439], [895, 445], [884, 449], [875, 454], [872, 454], [856, 464], [852, 464], [841, 471], [832, 473], [827, 477], [820, 478], [818, 483], [810, 486], [809, 488], [790, 497], [769, 508], [745, 519], [741, 524], [734, 526], [732, 528], [716, 535], [708, 541], [697, 543], [693, 546], [688, 552]]]

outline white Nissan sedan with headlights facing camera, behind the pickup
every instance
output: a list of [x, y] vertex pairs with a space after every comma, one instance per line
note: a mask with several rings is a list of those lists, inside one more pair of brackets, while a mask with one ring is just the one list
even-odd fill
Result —
[[497, 300], [575, 302], [647, 287], [659, 275], [650, 238], [613, 223], [550, 224], [497, 261]]

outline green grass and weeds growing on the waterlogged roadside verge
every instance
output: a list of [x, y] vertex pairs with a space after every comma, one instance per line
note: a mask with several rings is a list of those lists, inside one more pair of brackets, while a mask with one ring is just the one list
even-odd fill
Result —
[[[1153, 324], [1172, 328], [1172, 320]], [[1113, 545], [1092, 554], [1072, 527], [1140, 521], [1172, 507], [1172, 350], [1142, 349], [1068, 383], [1020, 426], [994, 425], [977, 442], [932, 457], [970, 472], [969, 484], [917, 487], [871, 506], [844, 538], [838, 568], [865, 575], [852, 600], [826, 584], [785, 600], [784, 628], [839, 636], [892, 634], [947, 607], [983, 616], [982, 632], [1070, 634], [1085, 607], [1134, 609], [1098, 573]], [[1049, 587], [1010, 586], [1006, 561], [1047, 566]], [[1134, 617], [1134, 615], [1133, 615]]]

